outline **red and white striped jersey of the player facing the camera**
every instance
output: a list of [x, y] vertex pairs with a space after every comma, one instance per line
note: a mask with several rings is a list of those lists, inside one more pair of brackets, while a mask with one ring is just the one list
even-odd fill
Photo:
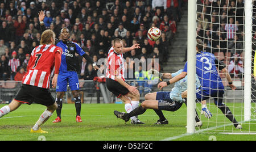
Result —
[[125, 81], [125, 62], [123, 60], [123, 54], [117, 54], [114, 52], [114, 48], [110, 48], [108, 53], [108, 67], [106, 69], [106, 78], [115, 80], [115, 76], [118, 76]]

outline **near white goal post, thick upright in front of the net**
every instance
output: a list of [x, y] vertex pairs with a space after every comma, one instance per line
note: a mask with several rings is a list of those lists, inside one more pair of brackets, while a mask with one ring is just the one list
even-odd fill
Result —
[[196, 0], [188, 1], [188, 94], [187, 133], [195, 133], [196, 117]]

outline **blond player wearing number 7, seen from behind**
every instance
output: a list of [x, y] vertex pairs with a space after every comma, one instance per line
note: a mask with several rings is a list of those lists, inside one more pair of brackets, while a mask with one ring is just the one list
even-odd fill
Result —
[[47, 109], [31, 128], [31, 133], [47, 133], [40, 126], [45, 123], [57, 109], [55, 99], [49, 92], [51, 73], [54, 73], [52, 87], [56, 87], [61, 63], [62, 49], [55, 45], [55, 33], [50, 29], [43, 32], [38, 47], [32, 50], [28, 61], [27, 73], [22, 80], [22, 87], [14, 100], [0, 109], [0, 118], [19, 108], [22, 103], [33, 102], [46, 105]]

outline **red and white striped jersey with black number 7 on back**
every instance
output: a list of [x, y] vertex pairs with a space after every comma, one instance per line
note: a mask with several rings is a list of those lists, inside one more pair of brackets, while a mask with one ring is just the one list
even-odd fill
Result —
[[31, 86], [49, 88], [51, 74], [54, 72], [55, 54], [62, 54], [62, 49], [55, 45], [39, 45], [31, 52], [27, 73], [22, 83]]

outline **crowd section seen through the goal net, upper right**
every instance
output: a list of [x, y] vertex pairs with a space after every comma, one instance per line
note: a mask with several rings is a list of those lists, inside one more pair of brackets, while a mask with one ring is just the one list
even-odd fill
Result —
[[243, 74], [244, 2], [197, 1], [197, 38], [203, 40], [205, 51], [228, 65], [232, 78]]

